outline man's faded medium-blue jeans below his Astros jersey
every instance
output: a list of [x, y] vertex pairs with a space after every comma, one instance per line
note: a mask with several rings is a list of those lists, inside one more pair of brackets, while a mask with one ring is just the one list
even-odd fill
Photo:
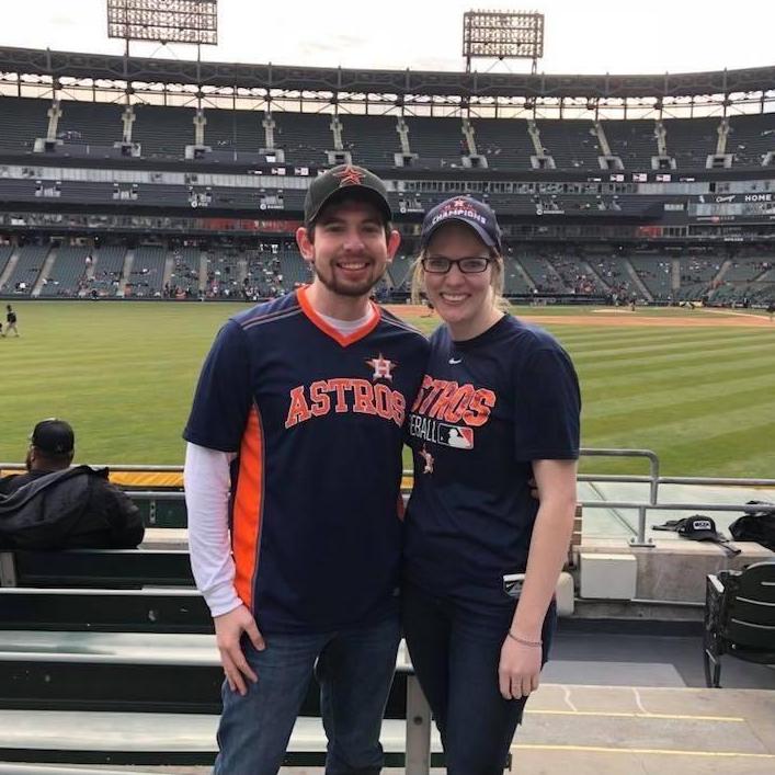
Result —
[[224, 682], [218, 727], [218, 775], [274, 775], [312, 673], [328, 737], [327, 775], [372, 775], [383, 765], [379, 731], [396, 668], [398, 616], [374, 625], [316, 635], [266, 635], [266, 649], [249, 642], [255, 671], [242, 697]]

